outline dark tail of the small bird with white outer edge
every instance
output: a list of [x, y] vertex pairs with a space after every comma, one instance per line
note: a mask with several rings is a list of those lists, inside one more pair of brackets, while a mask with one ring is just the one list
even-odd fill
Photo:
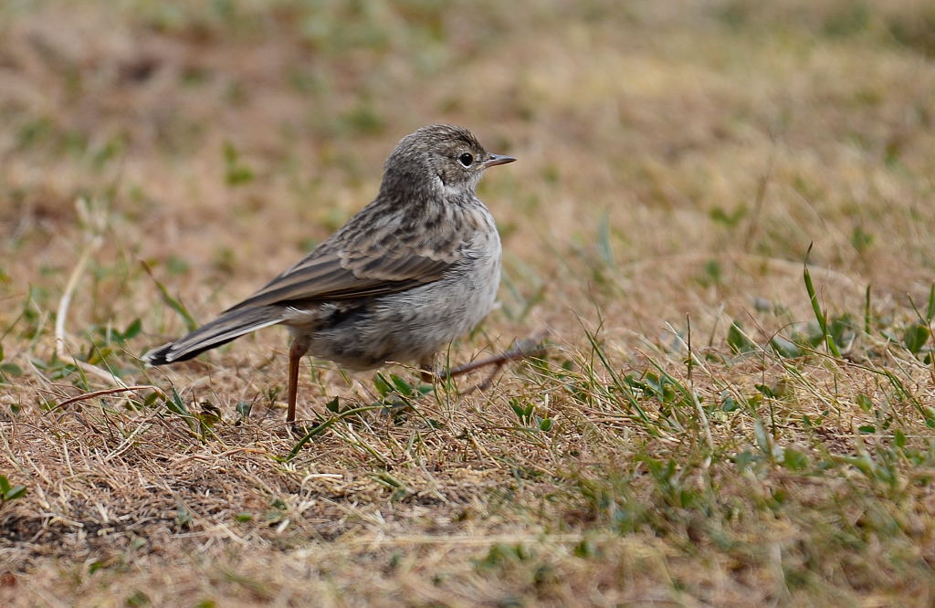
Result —
[[209, 324], [198, 327], [179, 340], [151, 350], [142, 358], [150, 365], [184, 361], [261, 327], [274, 326], [282, 320], [281, 307], [264, 306], [226, 311]]

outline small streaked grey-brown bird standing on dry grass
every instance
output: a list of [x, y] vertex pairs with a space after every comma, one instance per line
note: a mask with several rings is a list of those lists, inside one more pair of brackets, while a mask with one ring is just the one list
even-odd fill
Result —
[[151, 350], [160, 366], [267, 326], [285, 326], [286, 423], [295, 426], [304, 355], [351, 371], [388, 363], [429, 370], [434, 356], [494, 308], [502, 250], [475, 193], [483, 172], [516, 159], [487, 152], [468, 129], [423, 126], [383, 166], [376, 198], [272, 281], [213, 321]]

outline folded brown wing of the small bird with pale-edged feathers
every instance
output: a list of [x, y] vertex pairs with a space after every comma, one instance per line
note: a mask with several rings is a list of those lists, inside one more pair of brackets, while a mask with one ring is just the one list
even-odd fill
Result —
[[453, 250], [426, 251], [394, 237], [390, 241], [383, 241], [389, 246], [379, 253], [373, 247], [340, 249], [325, 242], [229, 311], [392, 294], [438, 281], [460, 259]]

